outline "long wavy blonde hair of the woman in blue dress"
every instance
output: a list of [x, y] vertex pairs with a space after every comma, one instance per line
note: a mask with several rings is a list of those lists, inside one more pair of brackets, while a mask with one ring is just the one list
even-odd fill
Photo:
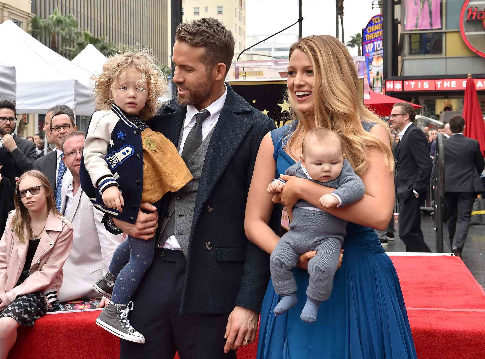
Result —
[[[329, 35], [301, 38], [291, 45], [290, 58], [296, 49], [305, 52], [313, 66], [314, 126], [328, 128], [340, 135], [346, 158], [357, 175], [366, 172], [367, 151], [372, 147], [383, 153], [389, 171], [392, 171], [394, 158], [389, 127], [368, 110], [359, 98], [356, 66], [349, 51], [337, 38]], [[302, 143], [311, 127], [305, 115], [297, 110], [296, 101], [289, 90], [287, 97], [291, 104], [291, 119], [299, 119], [295, 131], [284, 139], [288, 140], [287, 147], [292, 151]], [[365, 131], [362, 122], [374, 122], [385, 128], [389, 141], [383, 143], [377, 136]]]

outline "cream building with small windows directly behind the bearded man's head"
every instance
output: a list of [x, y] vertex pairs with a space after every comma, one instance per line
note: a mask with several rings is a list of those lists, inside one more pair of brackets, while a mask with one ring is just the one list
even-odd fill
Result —
[[182, 21], [214, 17], [229, 29], [236, 41], [234, 58], [246, 46], [246, 0], [182, 0]]

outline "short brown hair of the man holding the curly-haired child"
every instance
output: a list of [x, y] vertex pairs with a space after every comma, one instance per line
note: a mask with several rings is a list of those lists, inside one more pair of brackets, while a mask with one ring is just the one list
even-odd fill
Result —
[[219, 20], [203, 17], [184, 22], [177, 26], [175, 40], [203, 47], [200, 60], [206, 65], [207, 72], [219, 63], [226, 65], [226, 75], [229, 72], [236, 43], [232, 33]]

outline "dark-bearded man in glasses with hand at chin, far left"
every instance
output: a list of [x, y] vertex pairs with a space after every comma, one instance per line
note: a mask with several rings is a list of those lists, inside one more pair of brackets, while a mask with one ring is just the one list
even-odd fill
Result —
[[32, 141], [24, 140], [14, 133], [16, 117], [15, 104], [7, 100], [0, 101], [0, 145], [12, 153], [15, 175], [20, 177], [22, 173], [33, 168], [37, 153]]

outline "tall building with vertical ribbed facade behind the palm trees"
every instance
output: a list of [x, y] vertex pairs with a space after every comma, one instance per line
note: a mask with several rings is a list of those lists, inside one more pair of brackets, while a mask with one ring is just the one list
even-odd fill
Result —
[[[154, 50], [159, 63], [167, 65], [170, 33], [168, 1], [32, 0], [31, 11], [36, 16], [47, 18], [60, 2], [62, 14], [74, 15], [81, 31], [88, 30], [96, 37], [105, 37], [118, 47], [130, 44], [147, 46]], [[48, 39], [40, 40], [48, 44]]]

